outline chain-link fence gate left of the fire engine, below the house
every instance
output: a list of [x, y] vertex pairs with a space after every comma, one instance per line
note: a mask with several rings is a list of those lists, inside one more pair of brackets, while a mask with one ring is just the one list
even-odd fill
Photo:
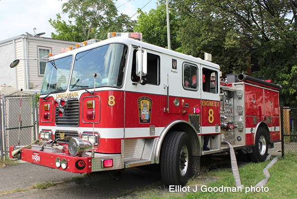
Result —
[[9, 154], [9, 146], [28, 145], [38, 132], [38, 100], [33, 95], [2, 95], [0, 100], [0, 155]]

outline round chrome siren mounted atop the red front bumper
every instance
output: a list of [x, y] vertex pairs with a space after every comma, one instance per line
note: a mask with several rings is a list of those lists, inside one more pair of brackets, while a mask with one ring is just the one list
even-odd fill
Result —
[[69, 141], [68, 148], [71, 156], [82, 156], [84, 152], [90, 151], [92, 143], [80, 137], [73, 137]]

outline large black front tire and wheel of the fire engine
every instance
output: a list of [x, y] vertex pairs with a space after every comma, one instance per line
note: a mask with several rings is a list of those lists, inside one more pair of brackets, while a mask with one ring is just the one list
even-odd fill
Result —
[[191, 143], [185, 132], [170, 132], [161, 149], [160, 170], [165, 186], [184, 186], [191, 173]]

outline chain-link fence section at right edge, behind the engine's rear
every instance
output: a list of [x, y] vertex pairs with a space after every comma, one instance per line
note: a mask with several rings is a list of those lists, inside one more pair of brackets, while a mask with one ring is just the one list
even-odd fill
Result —
[[281, 106], [282, 157], [297, 153], [297, 108]]

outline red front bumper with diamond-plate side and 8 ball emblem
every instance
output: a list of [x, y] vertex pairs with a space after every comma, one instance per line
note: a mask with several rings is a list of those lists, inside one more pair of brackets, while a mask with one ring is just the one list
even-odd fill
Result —
[[[16, 149], [16, 146], [9, 147], [10, 158], [13, 158], [11, 152]], [[21, 150], [21, 160], [28, 161], [50, 168], [56, 168], [72, 173], [91, 173], [104, 170], [117, 170], [124, 168], [124, 163], [121, 159], [121, 154], [99, 154], [95, 153], [92, 158], [91, 152], [87, 152], [84, 157], [73, 157], [65, 155], [64, 153], [51, 153], [39, 150], [25, 149]], [[55, 159], [66, 159], [67, 166], [63, 169], [61, 166], [57, 167]], [[111, 167], [103, 167], [102, 161], [104, 159], [112, 159], [113, 164]]]

